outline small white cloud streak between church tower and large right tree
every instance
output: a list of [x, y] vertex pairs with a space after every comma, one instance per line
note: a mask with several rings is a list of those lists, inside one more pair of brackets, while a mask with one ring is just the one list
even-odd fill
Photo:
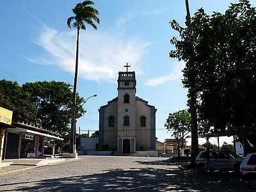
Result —
[[145, 83], [148, 86], [157, 86], [159, 84], [163, 84], [169, 81], [173, 81], [182, 77], [182, 70], [185, 67], [184, 62], [175, 63], [175, 67], [170, 74], [161, 77], [154, 77], [152, 79], [148, 79]]

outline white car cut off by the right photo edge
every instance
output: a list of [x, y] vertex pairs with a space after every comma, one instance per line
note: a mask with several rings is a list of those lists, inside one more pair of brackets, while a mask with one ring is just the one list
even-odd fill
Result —
[[252, 176], [256, 178], [256, 153], [247, 154], [241, 163], [240, 172], [243, 176]]

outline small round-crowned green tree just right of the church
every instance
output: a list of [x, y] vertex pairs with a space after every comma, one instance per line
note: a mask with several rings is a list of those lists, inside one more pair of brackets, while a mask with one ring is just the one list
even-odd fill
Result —
[[[191, 115], [187, 110], [170, 113], [166, 119], [164, 127], [172, 132], [172, 136], [178, 143], [178, 157], [180, 157], [180, 148], [184, 148], [184, 137], [191, 131]], [[182, 145], [180, 146], [180, 141]]]

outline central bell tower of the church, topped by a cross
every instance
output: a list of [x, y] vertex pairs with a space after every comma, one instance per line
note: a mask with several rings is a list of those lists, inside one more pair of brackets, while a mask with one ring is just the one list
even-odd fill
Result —
[[118, 152], [130, 154], [136, 148], [136, 78], [135, 72], [118, 73]]

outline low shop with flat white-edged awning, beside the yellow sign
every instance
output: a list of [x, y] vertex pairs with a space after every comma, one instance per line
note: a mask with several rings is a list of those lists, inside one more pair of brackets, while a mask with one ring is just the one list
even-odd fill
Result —
[[45, 143], [51, 143], [51, 155], [54, 155], [55, 141], [61, 140], [47, 129], [13, 122], [5, 131], [3, 159], [44, 157]]

